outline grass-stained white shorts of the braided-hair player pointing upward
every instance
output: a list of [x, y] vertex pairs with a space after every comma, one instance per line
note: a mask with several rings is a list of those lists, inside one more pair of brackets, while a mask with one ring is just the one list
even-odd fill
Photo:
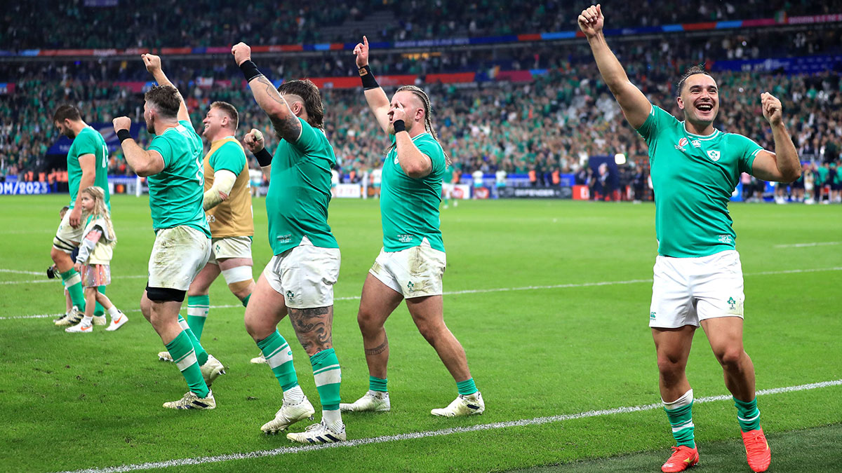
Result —
[[429, 246], [427, 238], [418, 247], [399, 252], [381, 249], [369, 273], [406, 299], [441, 295], [447, 257]]

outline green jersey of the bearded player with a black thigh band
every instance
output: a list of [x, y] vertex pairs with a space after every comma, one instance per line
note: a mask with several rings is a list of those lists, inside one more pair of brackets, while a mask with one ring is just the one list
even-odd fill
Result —
[[205, 194], [205, 170], [202, 167], [202, 140], [193, 125], [180, 120], [179, 125], [152, 138], [149, 151], [163, 157], [163, 171], [147, 178], [152, 229], [192, 226], [210, 238], [202, 197]]

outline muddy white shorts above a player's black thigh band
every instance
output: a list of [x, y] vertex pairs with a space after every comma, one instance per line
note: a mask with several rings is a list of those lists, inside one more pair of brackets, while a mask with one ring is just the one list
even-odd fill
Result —
[[192, 226], [157, 231], [149, 255], [149, 287], [188, 290], [210, 257], [210, 238]]

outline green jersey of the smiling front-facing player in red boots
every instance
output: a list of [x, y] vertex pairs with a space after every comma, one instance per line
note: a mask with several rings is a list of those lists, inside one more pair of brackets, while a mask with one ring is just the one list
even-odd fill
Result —
[[658, 254], [695, 258], [734, 249], [728, 202], [763, 148], [742, 135], [694, 135], [652, 106], [637, 130], [649, 146]]

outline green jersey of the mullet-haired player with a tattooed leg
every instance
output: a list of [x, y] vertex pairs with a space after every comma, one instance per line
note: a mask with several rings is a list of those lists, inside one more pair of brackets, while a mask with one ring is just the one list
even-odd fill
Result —
[[303, 237], [316, 247], [339, 247], [328, 226], [333, 146], [324, 131], [298, 121], [301, 136], [294, 143], [281, 140], [272, 157], [266, 213], [276, 255], [297, 247]]

